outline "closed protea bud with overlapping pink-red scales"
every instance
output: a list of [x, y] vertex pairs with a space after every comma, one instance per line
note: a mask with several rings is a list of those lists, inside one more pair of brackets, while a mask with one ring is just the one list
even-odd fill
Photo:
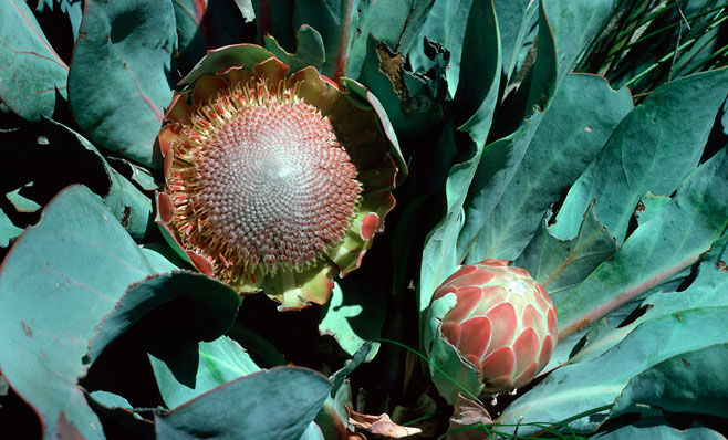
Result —
[[[498, 395], [528, 384], [545, 367], [558, 339], [557, 310], [543, 287], [506, 260], [460, 266], [435, 291], [425, 348], [470, 392]], [[431, 369], [440, 394], [456, 385]]]

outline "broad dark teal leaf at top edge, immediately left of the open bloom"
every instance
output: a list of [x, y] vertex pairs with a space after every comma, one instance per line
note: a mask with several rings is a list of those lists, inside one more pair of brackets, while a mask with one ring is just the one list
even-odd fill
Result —
[[86, 1], [69, 73], [69, 104], [98, 146], [160, 167], [154, 143], [171, 101], [177, 44], [170, 1]]

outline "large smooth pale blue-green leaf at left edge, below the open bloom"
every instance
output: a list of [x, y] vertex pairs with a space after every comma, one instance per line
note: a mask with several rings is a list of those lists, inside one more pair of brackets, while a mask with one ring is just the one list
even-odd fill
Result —
[[[75, 427], [102, 439], [76, 381], [98, 324], [127, 286], [153, 273], [139, 248], [87, 188], [62, 191], [0, 266], [0, 369], [41, 418], [45, 438]], [[53, 380], [39, 380], [53, 371]]]

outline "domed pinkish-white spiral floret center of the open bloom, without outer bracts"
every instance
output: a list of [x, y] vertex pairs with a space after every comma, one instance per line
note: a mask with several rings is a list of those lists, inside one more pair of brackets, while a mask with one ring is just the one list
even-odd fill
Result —
[[238, 85], [180, 134], [168, 175], [177, 230], [232, 279], [304, 270], [343, 239], [356, 167], [330, 118], [293, 90]]

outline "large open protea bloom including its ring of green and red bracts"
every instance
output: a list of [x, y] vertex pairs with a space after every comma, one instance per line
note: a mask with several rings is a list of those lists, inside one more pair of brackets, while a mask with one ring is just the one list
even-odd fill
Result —
[[325, 303], [395, 203], [402, 156], [381, 105], [249, 44], [209, 51], [181, 84], [159, 132], [167, 240], [282, 310]]

